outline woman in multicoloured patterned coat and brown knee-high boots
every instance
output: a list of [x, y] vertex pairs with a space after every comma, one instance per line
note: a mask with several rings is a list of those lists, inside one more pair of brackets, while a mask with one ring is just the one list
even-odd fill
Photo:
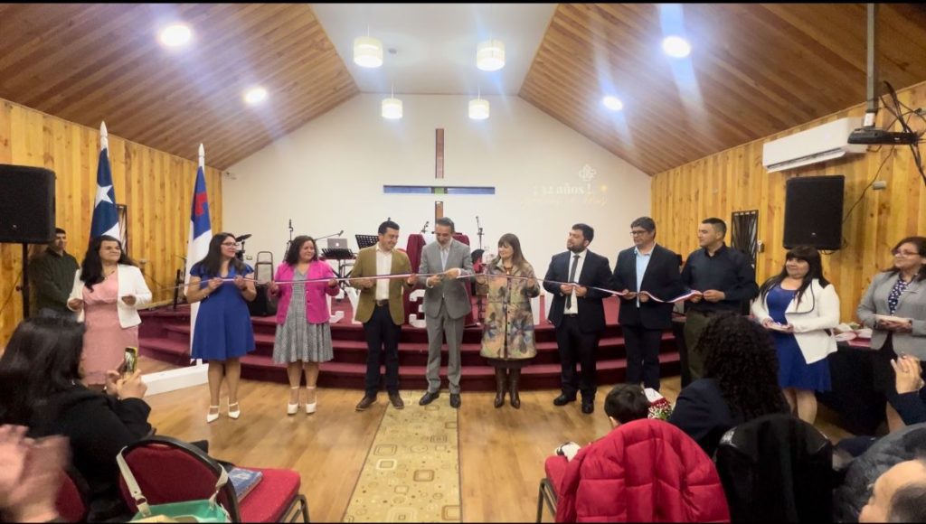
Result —
[[488, 306], [480, 355], [495, 368], [494, 405], [505, 404], [507, 389], [511, 406], [520, 408], [521, 368], [537, 356], [531, 299], [541, 290], [533, 266], [521, 253], [517, 236], [505, 233], [498, 239], [498, 256], [486, 265], [485, 274], [476, 277], [476, 282], [487, 288], [483, 293]]

